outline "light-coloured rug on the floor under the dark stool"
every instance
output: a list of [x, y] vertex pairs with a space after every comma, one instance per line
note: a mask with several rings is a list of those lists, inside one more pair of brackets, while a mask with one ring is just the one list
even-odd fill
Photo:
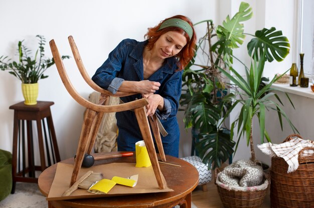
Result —
[[[46, 197], [40, 192], [37, 183], [17, 182], [14, 194], [0, 201], [1, 208], [45, 208]], [[192, 208], [197, 208], [192, 202]], [[176, 206], [179, 208], [179, 206]]]

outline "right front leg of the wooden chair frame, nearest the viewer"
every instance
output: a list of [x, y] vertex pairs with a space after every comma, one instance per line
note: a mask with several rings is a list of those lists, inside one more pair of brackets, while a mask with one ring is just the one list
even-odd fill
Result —
[[136, 119], [140, 128], [140, 132], [142, 134], [142, 137], [144, 139], [144, 142], [147, 148], [147, 152], [150, 158], [150, 162], [151, 162], [156, 180], [158, 182], [158, 186], [160, 189], [164, 189], [165, 183], [162, 178], [162, 171], [160, 169], [156, 150], [153, 144], [152, 135], [149, 128], [149, 123], [146, 116], [145, 107], [136, 108], [134, 109], [134, 112], [135, 112]]

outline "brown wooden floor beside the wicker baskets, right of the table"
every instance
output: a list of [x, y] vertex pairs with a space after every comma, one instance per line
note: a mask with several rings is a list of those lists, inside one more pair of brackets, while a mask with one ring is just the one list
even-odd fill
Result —
[[[203, 191], [202, 186], [199, 185], [195, 188], [195, 190], [193, 190], [192, 201], [197, 206], [197, 208], [223, 208], [224, 206], [222, 205], [217, 187], [213, 179], [207, 184], [207, 189], [207, 191]], [[270, 199], [268, 191], [261, 208], [269, 207]]]

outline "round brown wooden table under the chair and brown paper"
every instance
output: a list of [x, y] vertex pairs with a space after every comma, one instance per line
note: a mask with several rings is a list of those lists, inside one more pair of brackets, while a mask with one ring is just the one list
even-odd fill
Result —
[[[159, 156], [159, 154], [158, 154]], [[159, 156], [160, 157], [160, 156]], [[182, 159], [166, 155], [167, 162], [171, 164], [181, 165], [175, 166], [170, 164], [160, 163], [162, 173], [167, 181], [168, 187], [174, 191], [157, 192], [157, 193], [143, 193], [134, 195], [110, 196], [101, 198], [82, 198], [69, 200], [49, 200], [49, 208], [53, 207], [173, 207], [180, 204], [181, 207], [191, 207], [191, 192], [198, 185], [199, 173], [197, 169]], [[74, 159], [69, 158], [61, 161], [63, 163], [73, 164]], [[135, 163], [135, 153], [133, 156], [111, 158], [104, 160], [96, 160], [97, 164], [107, 164], [111, 162], [133, 162]], [[38, 178], [38, 185], [40, 191], [48, 196], [50, 187], [52, 185], [57, 164], [54, 164], [45, 169]]]

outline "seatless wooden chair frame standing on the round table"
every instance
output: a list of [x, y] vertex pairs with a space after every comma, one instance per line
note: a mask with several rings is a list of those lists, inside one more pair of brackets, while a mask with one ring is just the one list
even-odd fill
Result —
[[[79, 104], [86, 107], [83, 125], [82, 125], [82, 130], [81, 130], [81, 135], [80, 135], [80, 139], [79, 139], [79, 144], [78, 144], [77, 151], [76, 151], [76, 158], [75, 158], [75, 162], [74, 162], [74, 168], [73, 168], [73, 172], [72, 172], [70, 185], [72, 185], [78, 179], [78, 173], [79, 173], [81, 165], [82, 165], [84, 154], [85, 153], [90, 154], [92, 151], [92, 147], [93, 147], [94, 142], [95, 142], [96, 134], [97, 134], [98, 127], [99, 127], [101, 118], [103, 116], [103, 113], [105, 113], [105, 112], [120, 112], [120, 111], [125, 111], [125, 110], [134, 110], [137, 122], [139, 124], [140, 131], [141, 131], [141, 134], [143, 137], [143, 140], [145, 142], [145, 145], [146, 145], [146, 148], [148, 151], [148, 155], [149, 155], [149, 158], [150, 158], [150, 161], [152, 164], [152, 168], [153, 168], [156, 180], [158, 182], [158, 186], [159, 186], [159, 188], [164, 189], [165, 184], [164, 184], [164, 181], [162, 180], [162, 173], [161, 173], [161, 169], [159, 166], [158, 157], [157, 157], [157, 154], [156, 154], [156, 151], [154, 148], [152, 134], [150, 132], [148, 119], [146, 116], [145, 106], [148, 104], [148, 101], [145, 98], [141, 98], [138, 100], [127, 102], [127, 103], [122, 103], [122, 104], [117, 104], [117, 105], [106, 105], [109, 96], [122, 97], [122, 96], [128, 96], [128, 95], [135, 94], [135, 92], [118, 91], [117, 93], [112, 94], [111, 92], [99, 87], [89, 77], [89, 75], [88, 75], [88, 73], [87, 73], [87, 71], [83, 65], [81, 56], [78, 52], [78, 49], [77, 49], [77, 46], [74, 42], [73, 37], [70, 35], [68, 37], [68, 39], [69, 39], [69, 43], [70, 43], [72, 53], [74, 55], [77, 67], [78, 67], [79, 71], [81, 72], [84, 80], [94, 90], [101, 93], [100, 100], [99, 100], [98, 104], [94, 104], [94, 103], [88, 101], [87, 99], [85, 99], [84, 97], [82, 97], [75, 90], [75, 88], [73, 87], [73, 85], [72, 85], [72, 83], [71, 83], [71, 81], [70, 81], [70, 79], [69, 79], [69, 77], [65, 71], [65, 67], [63, 65], [63, 61], [61, 59], [61, 56], [60, 56], [60, 53], [59, 53], [58, 48], [56, 46], [56, 43], [55, 43], [54, 39], [52, 39], [49, 42], [50, 48], [51, 48], [51, 51], [52, 51], [59, 75], [62, 79], [62, 82], [64, 83], [64, 86], [66, 87], [66, 89], [68, 90], [70, 95]], [[154, 115], [154, 117], [152, 117], [152, 119], [151, 118], [149, 119], [151, 127], [153, 129], [155, 141], [156, 141], [156, 144], [158, 146], [161, 158], [163, 161], [166, 161], [166, 156], [164, 153], [164, 148], [163, 148], [161, 136], [159, 133], [159, 127], [158, 127], [158, 124], [156, 123], [155, 120], [156, 120], [155, 115]]]

